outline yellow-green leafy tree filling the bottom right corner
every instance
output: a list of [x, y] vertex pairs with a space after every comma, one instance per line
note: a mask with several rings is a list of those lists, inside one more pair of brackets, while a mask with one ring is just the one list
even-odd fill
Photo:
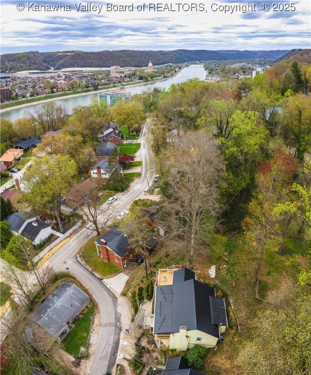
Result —
[[286, 310], [260, 311], [252, 326], [253, 337], [243, 344], [236, 359], [239, 374], [310, 374], [310, 295], [296, 300]]

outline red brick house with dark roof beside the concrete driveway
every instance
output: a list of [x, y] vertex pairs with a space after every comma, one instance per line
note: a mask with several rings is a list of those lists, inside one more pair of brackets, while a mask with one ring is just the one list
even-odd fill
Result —
[[[152, 250], [157, 240], [152, 238], [146, 243], [146, 248]], [[126, 234], [119, 227], [113, 227], [95, 241], [97, 254], [105, 261], [115, 264], [124, 270], [129, 263], [136, 261], [138, 249], [130, 245]]]

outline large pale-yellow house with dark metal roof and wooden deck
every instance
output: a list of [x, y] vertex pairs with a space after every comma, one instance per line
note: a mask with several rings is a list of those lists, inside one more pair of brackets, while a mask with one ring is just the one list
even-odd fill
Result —
[[158, 348], [212, 348], [228, 327], [225, 300], [185, 268], [159, 270], [152, 330]]

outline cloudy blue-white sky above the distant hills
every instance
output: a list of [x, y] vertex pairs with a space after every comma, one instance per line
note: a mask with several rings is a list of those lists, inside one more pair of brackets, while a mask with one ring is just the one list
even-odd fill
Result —
[[[113, 4], [134, 7], [141, 0], [113, 0]], [[151, 0], [152, 1], [152, 0]], [[157, 0], [160, 2], [161, 0]], [[25, 6], [17, 10], [17, 4]], [[178, 1], [177, 1], [178, 2]], [[186, 11], [187, 4], [204, 4], [204, 11]], [[107, 12], [108, 1], [96, 1], [102, 5], [100, 14], [77, 12], [78, 0], [61, 0], [70, 5], [71, 12], [33, 11], [24, 0], [1, 0], [1, 53], [23, 51], [105, 49], [291, 49], [311, 47], [310, 1], [295, 1], [294, 11], [262, 11], [263, 1], [210, 1], [189, 0], [184, 2], [185, 11]], [[56, 0], [30, 1], [36, 5], [59, 5]], [[214, 12], [211, 9], [212, 4]], [[86, 5], [87, 2], [81, 2]], [[146, 2], [149, 4], [149, 2]], [[162, 2], [161, 4], [165, 4]], [[175, 2], [172, 9], [177, 10]], [[242, 13], [235, 5], [255, 4], [256, 12]], [[285, 3], [283, 3], [285, 4]], [[222, 11], [222, 5], [233, 7], [232, 14]], [[282, 9], [282, 6], [280, 8]], [[19, 7], [21, 5], [19, 4]], [[21, 9], [21, 8], [19, 8]], [[68, 7], [67, 7], [68, 9]]]

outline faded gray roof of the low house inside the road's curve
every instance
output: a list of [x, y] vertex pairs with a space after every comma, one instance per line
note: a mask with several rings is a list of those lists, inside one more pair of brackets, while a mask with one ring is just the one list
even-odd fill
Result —
[[41, 303], [32, 319], [56, 337], [89, 298], [76, 284], [64, 282]]

